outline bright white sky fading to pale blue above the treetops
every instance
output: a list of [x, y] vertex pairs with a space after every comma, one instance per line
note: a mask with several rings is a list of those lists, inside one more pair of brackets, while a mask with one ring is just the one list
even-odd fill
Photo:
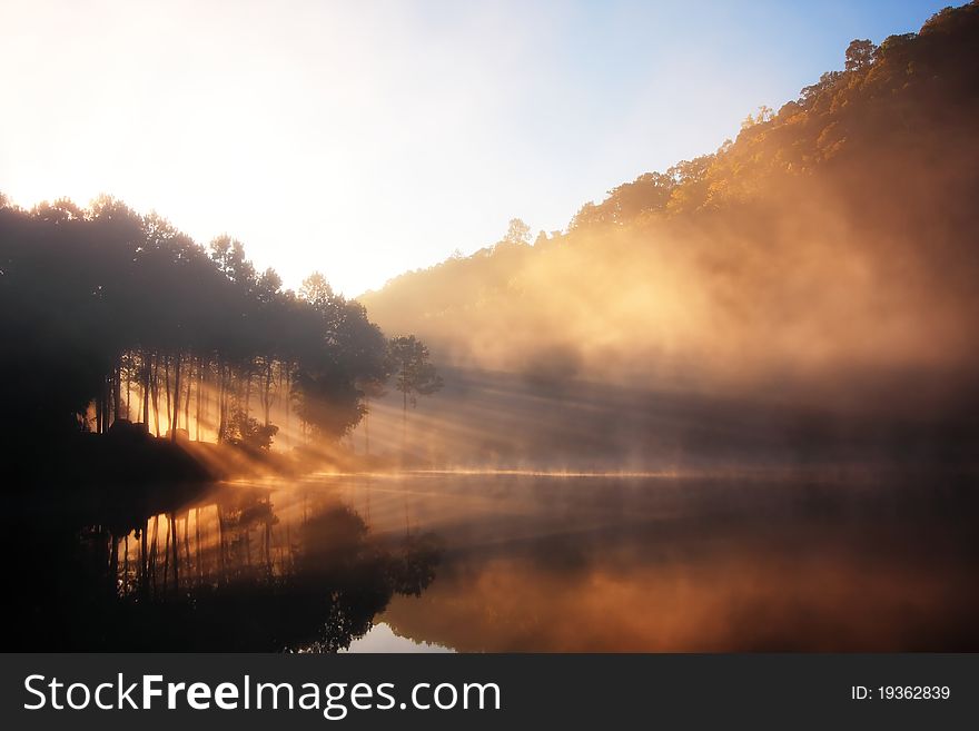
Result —
[[0, 0], [0, 191], [107, 192], [356, 296], [563, 229], [946, 4]]

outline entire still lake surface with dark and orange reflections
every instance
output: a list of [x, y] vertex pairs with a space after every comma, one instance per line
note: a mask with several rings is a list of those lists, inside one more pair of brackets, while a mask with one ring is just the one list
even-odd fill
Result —
[[971, 477], [415, 474], [168, 500], [17, 505], [14, 648], [979, 650]]

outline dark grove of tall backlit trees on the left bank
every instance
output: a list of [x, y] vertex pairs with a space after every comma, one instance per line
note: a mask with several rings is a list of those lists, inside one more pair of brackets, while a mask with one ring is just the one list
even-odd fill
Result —
[[[240, 241], [219, 236], [205, 249], [107, 196], [87, 209], [3, 199], [0, 340], [0, 389], [17, 414], [4, 421], [8, 441], [107, 432], [130, 417], [176, 438], [168, 425], [189, 429], [191, 396], [201, 421], [210, 393], [220, 437], [267, 448], [273, 405], [294, 401], [336, 437], [360, 417], [356, 383], [386, 376], [384, 335], [322, 275], [284, 290]], [[248, 413], [255, 403], [261, 424]]]

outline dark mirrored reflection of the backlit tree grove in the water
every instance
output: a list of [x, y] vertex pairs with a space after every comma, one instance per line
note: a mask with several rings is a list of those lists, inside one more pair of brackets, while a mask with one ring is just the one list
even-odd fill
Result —
[[419, 595], [441, 553], [427, 534], [377, 540], [329, 492], [229, 487], [105, 520], [32, 534], [57, 562], [26, 600], [32, 648], [335, 652], [393, 595]]

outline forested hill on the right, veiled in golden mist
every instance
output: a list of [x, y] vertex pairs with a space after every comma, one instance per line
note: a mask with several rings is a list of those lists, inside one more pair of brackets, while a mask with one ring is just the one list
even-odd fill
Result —
[[977, 129], [972, 2], [853, 41], [843, 70], [563, 233], [514, 221], [360, 300], [436, 357], [545, 379], [948, 383], [976, 365]]

